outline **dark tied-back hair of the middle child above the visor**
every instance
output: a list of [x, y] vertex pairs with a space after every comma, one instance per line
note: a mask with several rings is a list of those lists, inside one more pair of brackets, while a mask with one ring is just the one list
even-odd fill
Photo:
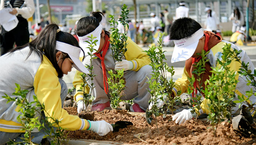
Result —
[[[99, 26], [99, 22], [101, 22], [102, 16], [102, 12], [91, 12], [90, 16], [81, 18], [76, 24], [76, 34], [79, 37], [82, 37], [94, 31]], [[108, 31], [104, 31], [105, 34], [108, 36], [110, 35]]]

